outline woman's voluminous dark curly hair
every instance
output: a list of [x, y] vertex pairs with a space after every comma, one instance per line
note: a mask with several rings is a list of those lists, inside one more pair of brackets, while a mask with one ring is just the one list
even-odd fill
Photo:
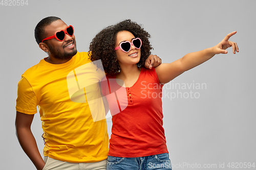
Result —
[[121, 70], [117, 62], [115, 53], [116, 36], [120, 31], [129, 31], [136, 38], [140, 38], [142, 45], [140, 48], [140, 61], [137, 63], [138, 67], [144, 67], [145, 61], [151, 54], [153, 49], [150, 41], [150, 34], [146, 32], [141, 25], [127, 19], [117, 23], [116, 25], [106, 27], [100, 31], [95, 38], [93, 38], [89, 47], [89, 56], [92, 61], [101, 60], [106, 75], [116, 75]]

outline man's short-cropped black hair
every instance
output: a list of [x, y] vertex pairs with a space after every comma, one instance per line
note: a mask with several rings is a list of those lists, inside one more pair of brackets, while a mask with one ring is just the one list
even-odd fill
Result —
[[[59, 20], [59, 17], [48, 16], [37, 23], [35, 27], [35, 40], [39, 44], [46, 37], [45, 27], [49, 26], [53, 21]], [[60, 19], [61, 20], [61, 19]]]

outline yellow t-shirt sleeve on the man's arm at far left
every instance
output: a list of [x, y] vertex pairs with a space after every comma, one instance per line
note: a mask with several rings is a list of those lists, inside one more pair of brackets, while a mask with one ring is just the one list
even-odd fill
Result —
[[36, 106], [38, 103], [30, 83], [26, 78], [22, 77], [18, 82], [16, 111], [25, 114], [35, 114], [37, 113]]

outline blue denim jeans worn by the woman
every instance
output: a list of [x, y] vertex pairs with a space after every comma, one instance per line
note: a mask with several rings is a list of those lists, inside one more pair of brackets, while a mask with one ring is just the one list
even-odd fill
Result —
[[106, 170], [172, 170], [169, 154], [158, 154], [136, 158], [108, 156]]

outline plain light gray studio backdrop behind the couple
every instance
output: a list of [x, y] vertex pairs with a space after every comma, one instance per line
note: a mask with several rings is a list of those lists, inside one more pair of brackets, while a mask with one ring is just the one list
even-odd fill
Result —
[[[229, 49], [164, 86], [164, 128], [173, 169], [255, 169], [245, 165], [256, 163], [256, 1], [13, 1], [0, 5], [0, 169], [35, 169], [15, 136], [15, 100], [20, 75], [47, 57], [34, 39], [36, 24], [47, 16], [74, 26], [79, 52], [88, 51], [104, 27], [131, 18], [151, 34], [152, 53], [164, 63], [237, 31], [230, 40], [239, 53]], [[109, 134], [111, 124], [108, 118]], [[39, 113], [32, 131], [42, 153]]]

